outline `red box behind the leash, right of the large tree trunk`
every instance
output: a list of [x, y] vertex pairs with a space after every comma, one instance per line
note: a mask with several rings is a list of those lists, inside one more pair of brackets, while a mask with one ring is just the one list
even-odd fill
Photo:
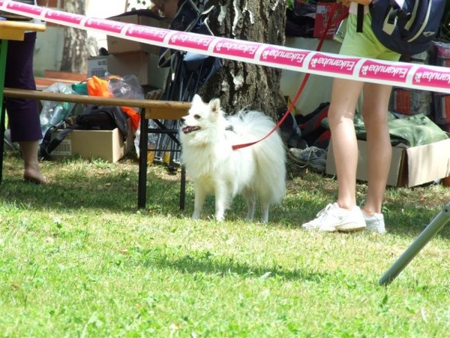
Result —
[[[316, 7], [316, 19], [314, 20], [313, 37], [321, 38], [325, 33], [328, 21], [331, 19], [331, 13], [334, 10], [332, 20], [336, 21], [344, 12], [348, 11], [348, 7], [343, 6], [342, 3], [336, 2], [318, 2]], [[330, 26], [325, 38], [331, 39], [339, 28], [340, 22], [336, 22]]]

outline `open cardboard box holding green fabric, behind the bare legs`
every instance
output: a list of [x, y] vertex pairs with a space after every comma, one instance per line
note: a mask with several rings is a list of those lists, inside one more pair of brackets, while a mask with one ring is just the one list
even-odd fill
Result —
[[[357, 179], [367, 181], [367, 142], [358, 141]], [[417, 147], [393, 147], [388, 186], [419, 186], [450, 176], [450, 139]], [[336, 175], [330, 142], [325, 172]]]

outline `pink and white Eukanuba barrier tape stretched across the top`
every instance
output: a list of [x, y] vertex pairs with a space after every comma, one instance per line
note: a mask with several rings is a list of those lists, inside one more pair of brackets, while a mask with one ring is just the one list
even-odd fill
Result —
[[211, 37], [178, 30], [126, 24], [27, 5], [12, 0], [0, 0], [0, 9], [61, 26], [93, 30], [106, 35], [180, 51], [333, 78], [390, 84], [395, 87], [450, 94], [450, 69], [440, 66], [350, 57], [240, 39]]

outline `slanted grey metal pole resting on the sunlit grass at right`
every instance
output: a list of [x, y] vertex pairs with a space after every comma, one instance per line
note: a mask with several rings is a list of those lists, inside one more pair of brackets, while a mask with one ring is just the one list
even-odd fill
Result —
[[420, 250], [434, 237], [447, 223], [450, 222], [450, 203], [444, 206], [442, 211], [426, 226], [424, 231], [404, 251], [388, 271], [379, 279], [379, 285], [388, 285], [408, 265]]

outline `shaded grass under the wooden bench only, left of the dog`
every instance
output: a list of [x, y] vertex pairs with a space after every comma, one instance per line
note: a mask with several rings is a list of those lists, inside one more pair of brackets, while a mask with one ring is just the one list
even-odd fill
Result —
[[[138, 164], [123, 167], [120, 164], [81, 163], [76, 160], [55, 162], [51, 182], [36, 185], [24, 182], [20, 168], [6, 159], [6, 170], [0, 185], [3, 203], [17, 204], [30, 209], [68, 210], [100, 208], [114, 212], [138, 210]], [[79, 160], [78, 160], [79, 161]], [[75, 164], [74, 164], [75, 162]], [[102, 168], [104, 165], [104, 168]], [[73, 168], [75, 166], [75, 168]], [[70, 167], [70, 168], [68, 168]], [[160, 177], [150, 168], [147, 173], [147, 210], [179, 212], [180, 173], [173, 177]], [[159, 168], [163, 172], [163, 168]]]

